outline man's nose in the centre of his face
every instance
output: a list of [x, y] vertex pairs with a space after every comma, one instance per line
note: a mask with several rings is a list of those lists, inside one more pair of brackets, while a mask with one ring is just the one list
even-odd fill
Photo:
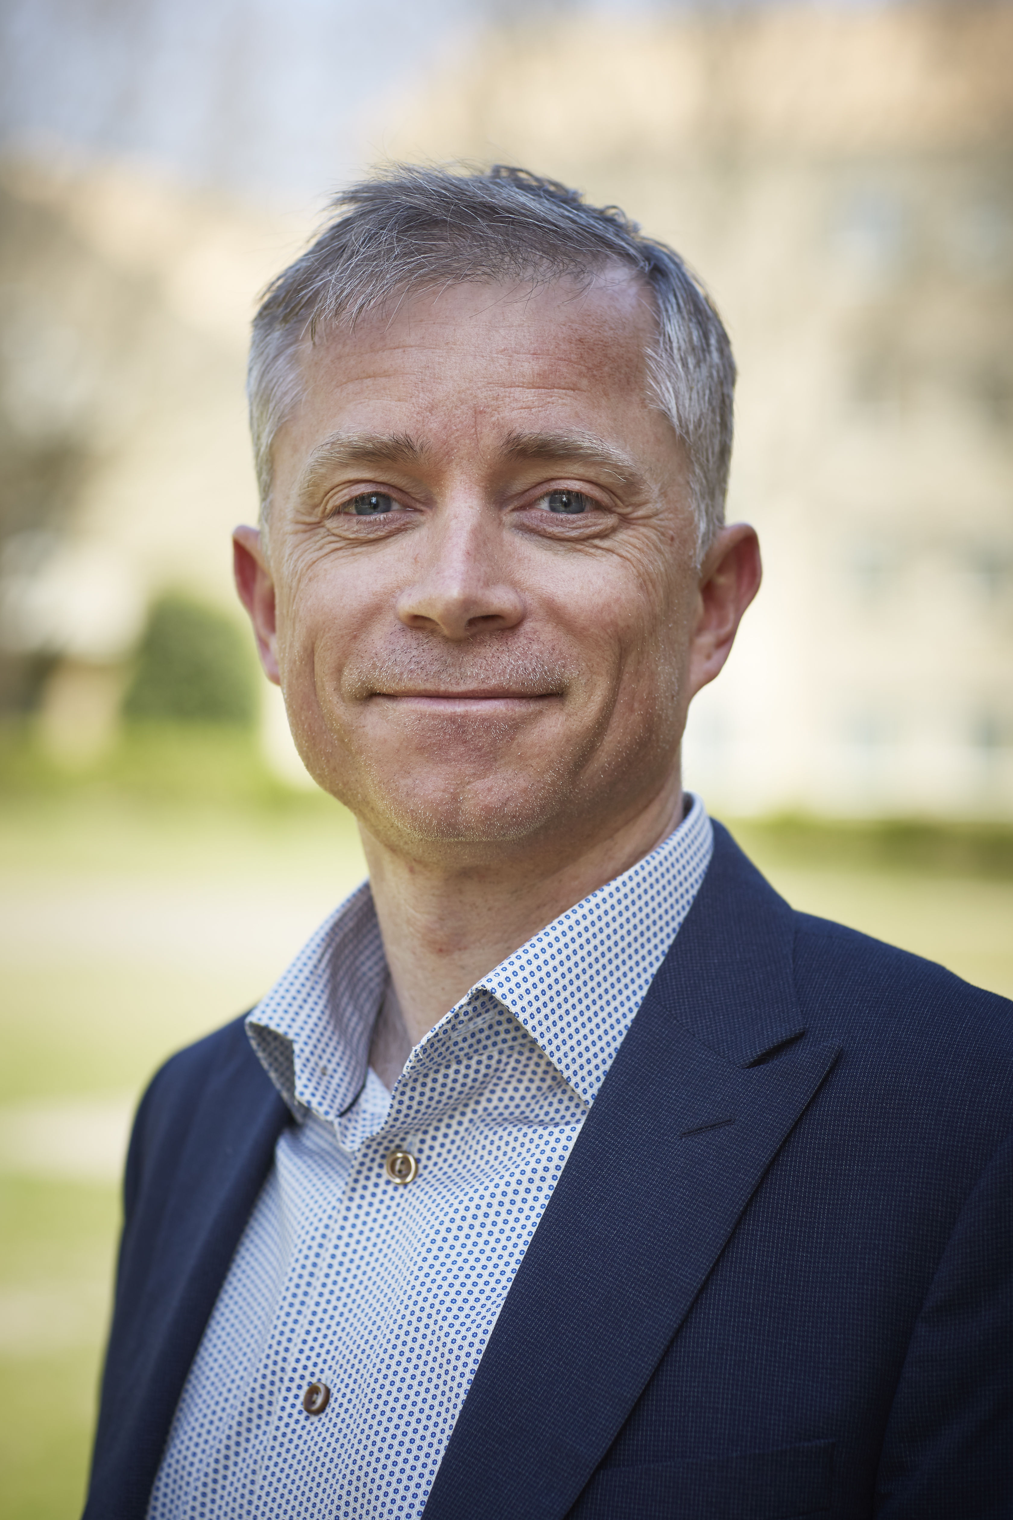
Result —
[[412, 585], [398, 596], [406, 628], [460, 641], [513, 628], [524, 597], [507, 570], [503, 527], [495, 509], [475, 503], [433, 512]]

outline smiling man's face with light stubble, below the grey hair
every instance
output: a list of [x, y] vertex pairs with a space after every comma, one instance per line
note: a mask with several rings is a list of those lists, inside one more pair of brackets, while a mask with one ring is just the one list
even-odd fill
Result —
[[570, 850], [677, 781], [714, 672], [653, 333], [606, 274], [418, 295], [305, 350], [240, 588], [308, 771], [387, 845]]

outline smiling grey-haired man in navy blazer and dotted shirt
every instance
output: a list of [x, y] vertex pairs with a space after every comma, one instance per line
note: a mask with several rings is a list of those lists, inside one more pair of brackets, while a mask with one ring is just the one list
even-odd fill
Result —
[[512, 169], [361, 184], [269, 290], [237, 582], [369, 883], [141, 1104], [88, 1517], [1013, 1512], [1010, 1005], [682, 793], [732, 382]]

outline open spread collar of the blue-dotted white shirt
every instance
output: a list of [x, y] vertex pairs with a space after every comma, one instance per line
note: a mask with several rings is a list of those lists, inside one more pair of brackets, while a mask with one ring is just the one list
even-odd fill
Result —
[[[565, 1081], [594, 1097], [693, 904], [714, 850], [699, 796], [650, 854], [560, 914], [481, 979], [419, 1041], [406, 1072], [425, 1064], [469, 1003], [492, 994], [527, 1029]], [[246, 1028], [296, 1117], [345, 1114], [361, 1093], [387, 965], [364, 882], [304, 945]]]

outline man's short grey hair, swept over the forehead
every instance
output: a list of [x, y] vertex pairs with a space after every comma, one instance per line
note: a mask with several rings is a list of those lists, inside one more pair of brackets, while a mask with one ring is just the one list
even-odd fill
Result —
[[702, 556], [724, 520], [732, 453], [735, 360], [706, 290], [665, 243], [618, 207], [525, 169], [486, 173], [395, 164], [339, 195], [316, 242], [273, 280], [254, 319], [249, 416], [264, 514], [272, 445], [298, 404], [299, 347], [390, 298], [462, 283], [571, 277], [626, 266], [655, 293], [658, 336], [647, 353], [650, 400], [682, 439]]

